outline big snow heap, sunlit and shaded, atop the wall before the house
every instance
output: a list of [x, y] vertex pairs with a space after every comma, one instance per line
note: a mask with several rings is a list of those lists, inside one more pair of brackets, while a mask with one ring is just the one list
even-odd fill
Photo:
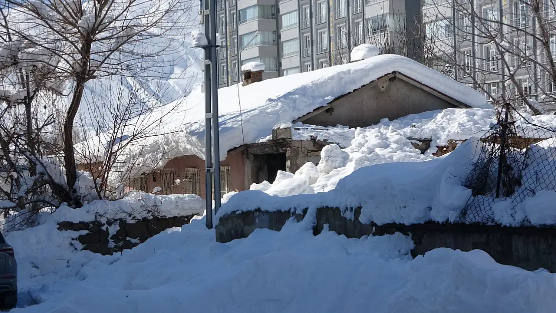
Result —
[[[233, 211], [322, 206], [361, 206], [359, 220], [364, 223], [456, 221], [471, 196], [471, 190], [463, 186], [465, 179], [483, 147], [478, 137], [471, 136], [488, 131], [492, 116], [494, 112], [489, 110], [448, 109], [359, 128], [349, 147], [342, 150], [337, 145], [326, 146], [319, 165], [306, 163], [295, 174], [279, 172], [272, 184], [254, 184], [251, 191], [227, 196], [216, 221]], [[556, 125], [556, 116], [524, 118], [540, 126]], [[518, 120], [518, 133], [524, 127], [529, 126]], [[449, 155], [435, 158], [430, 150], [422, 155], [407, 137], [431, 138], [431, 150], [449, 138], [468, 141]], [[553, 173], [539, 177], [543, 168], [556, 168], [554, 138], [534, 145], [530, 153], [539, 149], [544, 151], [535, 155], [544, 157], [526, 160], [529, 176], [523, 178], [523, 190], [516, 192], [525, 195], [525, 201], [510, 197], [497, 203], [497, 222], [521, 225], [524, 217], [531, 215], [534, 225], [556, 223], [556, 211], [550, 208], [556, 201], [556, 178]], [[311, 195], [317, 192], [325, 193]], [[520, 202], [517, 207], [516, 201]]]

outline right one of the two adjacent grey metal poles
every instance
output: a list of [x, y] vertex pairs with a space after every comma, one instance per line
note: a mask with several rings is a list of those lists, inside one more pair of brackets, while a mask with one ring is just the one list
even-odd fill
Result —
[[[218, 25], [216, 24], [216, 1], [210, 0], [210, 46], [211, 46], [211, 75], [212, 75], [212, 132], [214, 141], [214, 211], [218, 212], [220, 208], [220, 137], [219, 137], [219, 123], [218, 123], [218, 59], [216, 55], [216, 47], [219, 43], [216, 42], [216, 33]], [[212, 193], [212, 190], [210, 191]], [[212, 203], [211, 203], [212, 205]]]

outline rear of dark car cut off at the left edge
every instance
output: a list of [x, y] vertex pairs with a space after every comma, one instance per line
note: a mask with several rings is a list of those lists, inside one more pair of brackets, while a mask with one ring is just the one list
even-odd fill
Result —
[[0, 307], [12, 309], [17, 305], [17, 262], [13, 247], [0, 232]]

